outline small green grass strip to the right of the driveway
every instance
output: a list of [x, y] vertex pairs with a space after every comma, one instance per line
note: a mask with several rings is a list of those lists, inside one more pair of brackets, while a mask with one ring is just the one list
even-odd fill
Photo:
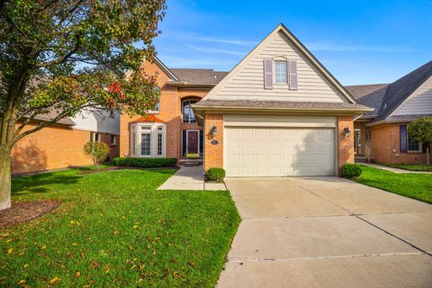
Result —
[[432, 174], [393, 173], [370, 166], [362, 170], [354, 181], [432, 203]]

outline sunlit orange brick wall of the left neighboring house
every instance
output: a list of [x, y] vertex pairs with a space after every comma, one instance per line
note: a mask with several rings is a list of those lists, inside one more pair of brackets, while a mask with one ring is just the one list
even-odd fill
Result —
[[[36, 124], [28, 124], [23, 131]], [[29, 173], [69, 166], [92, 165], [83, 147], [90, 140], [90, 131], [53, 125], [32, 133], [14, 145], [12, 149], [12, 174]], [[110, 135], [101, 134], [101, 140], [110, 145]], [[117, 146], [111, 147], [110, 157], [118, 156]]]

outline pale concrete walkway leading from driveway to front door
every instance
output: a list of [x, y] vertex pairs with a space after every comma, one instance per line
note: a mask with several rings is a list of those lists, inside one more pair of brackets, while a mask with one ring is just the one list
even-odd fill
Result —
[[200, 166], [182, 166], [157, 190], [227, 190], [223, 183], [205, 183]]

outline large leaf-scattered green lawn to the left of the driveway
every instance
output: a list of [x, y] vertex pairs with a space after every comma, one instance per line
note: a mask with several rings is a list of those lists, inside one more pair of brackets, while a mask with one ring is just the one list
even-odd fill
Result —
[[214, 286], [239, 222], [229, 192], [157, 191], [172, 169], [78, 171], [13, 180], [14, 201], [63, 203], [0, 232], [0, 286]]

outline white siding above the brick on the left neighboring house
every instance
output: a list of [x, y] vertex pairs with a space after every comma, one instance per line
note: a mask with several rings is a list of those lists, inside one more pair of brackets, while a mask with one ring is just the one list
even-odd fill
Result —
[[82, 110], [71, 118], [74, 129], [120, 135], [120, 112], [110, 115], [106, 110]]

